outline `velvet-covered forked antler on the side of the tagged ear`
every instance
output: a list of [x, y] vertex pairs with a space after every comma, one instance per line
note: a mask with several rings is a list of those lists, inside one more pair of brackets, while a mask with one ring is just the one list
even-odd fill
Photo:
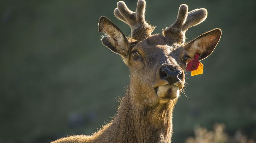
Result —
[[200, 24], [207, 18], [207, 10], [204, 8], [188, 12], [188, 6], [182, 4], [179, 8], [176, 21], [163, 31], [164, 36], [178, 44], [184, 44], [186, 31], [195, 25]]

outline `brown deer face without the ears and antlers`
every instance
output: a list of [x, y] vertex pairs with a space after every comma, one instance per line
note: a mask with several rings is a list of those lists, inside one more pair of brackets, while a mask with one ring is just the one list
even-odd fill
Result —
[[136, 44], [129, 57], [131, 81], [137, 87], [142, 85], [139, 95], [162, 103], [179, 96], [185, 83], [184, 70], [189, 57], [182, 46], [165, 43], [165, 37], [151, 36]]

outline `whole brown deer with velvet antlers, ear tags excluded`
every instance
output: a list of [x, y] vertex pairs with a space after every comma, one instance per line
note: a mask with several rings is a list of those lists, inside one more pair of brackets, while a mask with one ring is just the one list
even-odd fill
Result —
[[190, 42], [186, 31], [207, 18], [204, 8], [188, 11], [181, 4], [176, 21], [151, 34], [155, 26], [145, 20], [145, 0], [137, 2], [136, 11], [125, 2], [117, 2], [116, 18], [130, 26], [126, 37], [108, 18], [101, 16], [99, 32], [103, 45], [119, 54], [130, 68], [130, 83], [117, 114], [92, 135], [71, 135], [52, 143], [171, 143], [173, 109], [185, 85], [186, 64], [207, 58], [221, 37], [220, 29], [210, 30]]

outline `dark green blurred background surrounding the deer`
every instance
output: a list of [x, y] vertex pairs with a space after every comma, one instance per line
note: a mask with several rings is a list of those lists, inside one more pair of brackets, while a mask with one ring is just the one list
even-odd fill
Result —
[[[135, 11], [137, 0], [126, 0]], [[129, 69], [100, 42], [98, 19], [113, 15], [117, 0], [0, 1], [0, 142], [41, 143], [92, 134], [113, 117], [129, 84]], [[194, 125], [256, 137], [255, 0], [147, 0], [154, 33], [172, 24], [180, 4], [206, 8], [208, 18], [187, 41], [214, 29], [222, 38], [202, 61], [204, 73], [187, 74], [186, 96], [173, 113], [173, 142], [193, 135]]]

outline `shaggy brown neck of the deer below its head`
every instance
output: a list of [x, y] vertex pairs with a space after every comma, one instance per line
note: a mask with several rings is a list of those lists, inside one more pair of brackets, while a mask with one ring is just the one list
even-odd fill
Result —
[[111, 139], [109, 142], [170, 143], [172, 112], [176, 100], [146, 106], [134, 101], [136, 95], [132, 93], [129, 88], [117, 116], [104, 129], [103, 136]]

